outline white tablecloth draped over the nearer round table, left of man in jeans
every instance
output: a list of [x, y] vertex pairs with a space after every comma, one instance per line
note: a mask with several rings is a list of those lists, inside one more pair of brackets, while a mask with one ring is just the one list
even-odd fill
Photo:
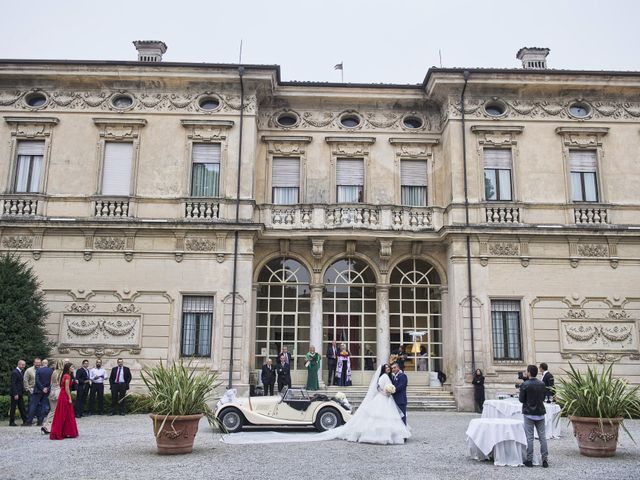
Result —
[[522, 465], [527, 449], [522, 420], [474, 418], [466, 433], [471, 458], [487, 460], [493, 454], [495, 465]]

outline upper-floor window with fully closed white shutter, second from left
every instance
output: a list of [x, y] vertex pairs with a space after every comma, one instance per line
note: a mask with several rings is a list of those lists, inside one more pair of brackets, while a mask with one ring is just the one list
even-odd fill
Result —
[[102, 195], [128, 197], [131, 194], [133, 143], [106, 142], [102, 169]]

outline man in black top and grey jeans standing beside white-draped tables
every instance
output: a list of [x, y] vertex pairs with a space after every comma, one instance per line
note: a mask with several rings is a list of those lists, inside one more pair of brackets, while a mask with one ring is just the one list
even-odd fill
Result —
[[545, 386], [536, 377], [538, 367], [529, 365], [525, 372], [525, 382], [520, 385], [520, 403], [522, 403], [522, 416], [524, 417], [524, 433], [527, 436], [527, 460], [525, 467], [533, 467], [533, 428], [538, 431], [540, 440], [540, 455], [542, 456], [542, 466], [547, 468], [549, 463], [547, 457], [547, 435], [544, 429], [544, 415], [547, 413], [544, 408]]

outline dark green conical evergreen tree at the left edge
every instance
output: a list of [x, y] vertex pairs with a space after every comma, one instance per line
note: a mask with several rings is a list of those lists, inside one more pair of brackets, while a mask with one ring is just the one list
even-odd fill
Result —
[[0, 256], [0, 394], [9, 392], [9, 377], [18, 360], [30, 365], [46, 358], [53, 347], [47, 339], [44, 294], [31, 267], [15, 254]]

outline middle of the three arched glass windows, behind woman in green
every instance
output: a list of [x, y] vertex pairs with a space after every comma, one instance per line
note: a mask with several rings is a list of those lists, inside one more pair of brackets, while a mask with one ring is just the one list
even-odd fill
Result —
[[338, 260], [324, 275], [324, 350], [335, 340], [351, 352], [351, 370], [373, 370], [376, 358], [376, 278], [366, 263]]

